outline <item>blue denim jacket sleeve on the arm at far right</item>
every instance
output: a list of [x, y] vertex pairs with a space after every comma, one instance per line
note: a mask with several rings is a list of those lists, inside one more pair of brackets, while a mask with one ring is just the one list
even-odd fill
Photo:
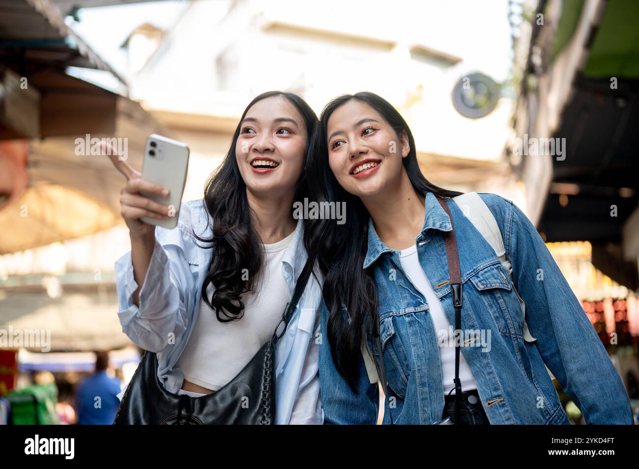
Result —
[[546, 366], [588, 424], [632, 424], [617, 369], [534, 225], [510, 204], [507, 250], [526, 320]]

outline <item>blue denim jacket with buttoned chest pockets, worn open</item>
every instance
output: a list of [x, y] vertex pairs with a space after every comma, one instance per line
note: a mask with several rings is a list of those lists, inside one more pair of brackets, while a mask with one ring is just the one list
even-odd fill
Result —
[[[463, 308], [461, 331], [486, 341], [461, 347], [484, 410], [492, 424], [569, 424], [548, 369], [589, 424], [632, 424], [619, 373], [530, 220], [510, 200], [480, 194], [497, 220], [514, 285], [525, 302], [532, 338], [523, 334], [523, 311], [495, 251], [447, 199], [459, 251]], [[442, 232], [450, 218], [433, 193], [426, 195], [426, 220], [415, 239], [424, 269], [448, 322], [454, 325], [449, 268]], [[399, 251], [388, 248], [369, 221], [364, 268], [372, 269], [378, 295], [381, 353], [390, 387], [383, 423], [433, 424], [442, 419], [444, 392], [438, 339], [424, 296], [406, 278]], [[344, 315], [346, 312], [343, 310]], [[327, 337], [328, 311], [321, 311]], [[472, 331], [472, 332], [471, 332]], [[374, 341], [369, 350], [376, 360]], [[466, 336], [464, 336], [466, 338]], [[534, 340], [533, 338], [536, 338]], [[452, 346], [452, 345], [451, 345]], [[378, 385], [371, 384], [360, 354], [358, 394], [337, 373], [330, 344], [319, 347], [319, 379], [325, 423], [374, 424]], [[389, 399], [389, 397], [394, 399]], [[389, 410], [389, 402], [395, 406]]]

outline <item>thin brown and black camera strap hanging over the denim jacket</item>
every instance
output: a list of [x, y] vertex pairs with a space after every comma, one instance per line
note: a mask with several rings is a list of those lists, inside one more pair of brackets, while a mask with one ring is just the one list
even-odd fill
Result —
[[[457, 251], [457, 240], [455, 238], [455, 230], [452, 226], [452, 215], [450, 215], [450, 209], [443, 198], [437, 196], [437, 201], [442, 205], [442, 208], [450, 218], [450, 227], [452, 230], [449, 232], [443, 232], [443, 237], [446, 242], [446, 255], [448, 257], [448, 269], [450, 278], [450, 293], [452, 294], [452, 306], [455, 309], [455, 330], [461, 329], [461, 269], [459, 269], [459, 253]], [[373, 339], [376, 341], [377, 350], [380, 354], [380, 363], [375, 361], [378, 376], [380, 376], [382, 389], [386, 392], [387, 396], [390, 396], [389, 383], [386, 379], [386, 370], [384, 368], [384, 359], [381, 356], [381, 343], [380, 343], [380, 325], [379, 322], [375, 324], [373, 330]], [[455, 421], [459, 422], [459, 407], [461, 406], [461, 381], [459, 380], [459, 343], [455, 341]], [[453, 390], [451, 389], [450, 392]], [[390, 424], [394, 424], [392, 412], [389, 407]], [[450, 417], [446, 417], [438, 424], [450, 425], [452, 421]]]

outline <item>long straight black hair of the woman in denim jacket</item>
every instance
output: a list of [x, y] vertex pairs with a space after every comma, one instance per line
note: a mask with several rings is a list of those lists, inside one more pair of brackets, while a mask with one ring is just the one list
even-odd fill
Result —
[[[317, 202], [346, 202], [346, 220], [338, 225], [335, 220], [309, 220], [304, 230], [304, 244], [309, 258], [317, 262], [324, 275], [323, 299], [329, 311], [327, 336], [335, 367], [357, 392], [358, 360], [362, 336], [367, 327], [378, 321], [377, 297], [371, 269], [364, 269], [368, 247], [369, 212], [359, 197], [348, 193], [339, 185], [328, 165], [327, 124], [335, 109], [356, 100], [369, 105], [390, 124], [397, 133], [408, 136], [410, 151], [402, 158], [404, 168], [417, 193], [433, 192], [454, 197], [461, 192], [442, 189], [429, 182], [417, 163], [415, 139], [403, 117], [392, 105], [374, 93], [343, 94], [330, 101], [319, 116], [309, 148], [307, 172], [309, 190]], [[343, 306], [348, 319], [344, 317]]]

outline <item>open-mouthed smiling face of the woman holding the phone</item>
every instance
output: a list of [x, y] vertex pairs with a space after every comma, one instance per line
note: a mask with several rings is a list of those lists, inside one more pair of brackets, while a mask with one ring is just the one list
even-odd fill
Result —
[[250, 107], [235, 147], [247, 189], [261, 195], [295, 191], [304, 168], [307, 131], [295, 106], [271, 96]]

